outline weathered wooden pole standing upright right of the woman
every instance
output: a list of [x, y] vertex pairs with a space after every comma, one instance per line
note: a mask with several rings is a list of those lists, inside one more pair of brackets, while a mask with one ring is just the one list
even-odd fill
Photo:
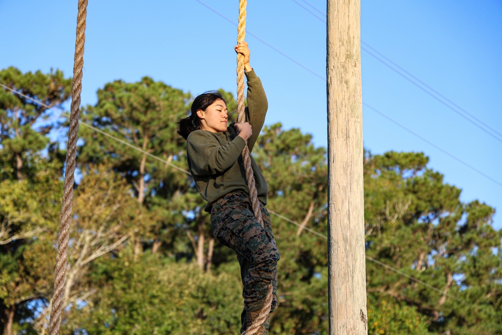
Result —
[[327, 1], [329, 333], [367, 334], [360, 0]]

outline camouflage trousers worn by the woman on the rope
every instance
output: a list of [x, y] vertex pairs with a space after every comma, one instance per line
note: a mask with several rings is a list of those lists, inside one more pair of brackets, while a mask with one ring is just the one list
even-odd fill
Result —
[[270, 283], [273, 285], [272, 310], [277, 305], [276, 246], [270, 215], [261, 204], [264, 227], [256, 219], [247, 194], [231, 193], [216, 201], [211, 209], [214, 237], [237, 254], [244, 286], [242, 296], [247, 311], [257, 311], [265, 303]]

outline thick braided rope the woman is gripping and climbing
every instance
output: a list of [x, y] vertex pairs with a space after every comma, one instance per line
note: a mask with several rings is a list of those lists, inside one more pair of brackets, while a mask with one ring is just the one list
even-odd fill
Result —
[[[239, 0], [239, 24], [237, 26], [237, 43], [244, 42], [245, 38], [245, 28], [246, 28], [246, 5], [247, 0]], [[237, 122], [245, 122], [244, 114], [244, 56], [237, 54], [237, 112], [238, 118]], [[242, 159], [244, 161], [244, 167], [246, 170], [247, 186], [249, 188], [249, 199], [253, 206], [253, 212], [256, 218], [263, 227], [262, 213], [260, 210], [260, 204], [258, 200], [258, 192], [256, 190], [255, 176], [253, 174], [253, 169], [251, 167], [251, 159], [249, 158], [249, 148], [247, 145], [242, 150]], [[260, 309], [258, 317], [253, 320], [253, 323], [241, 334], [241, 335], [253, 335], [257, 333], [260, 327], [267, 320], [270, 314], [270, 308], [272, 306], [272, 284], [270, 284], [267, 297], [265, 299], [265, 304]]]

